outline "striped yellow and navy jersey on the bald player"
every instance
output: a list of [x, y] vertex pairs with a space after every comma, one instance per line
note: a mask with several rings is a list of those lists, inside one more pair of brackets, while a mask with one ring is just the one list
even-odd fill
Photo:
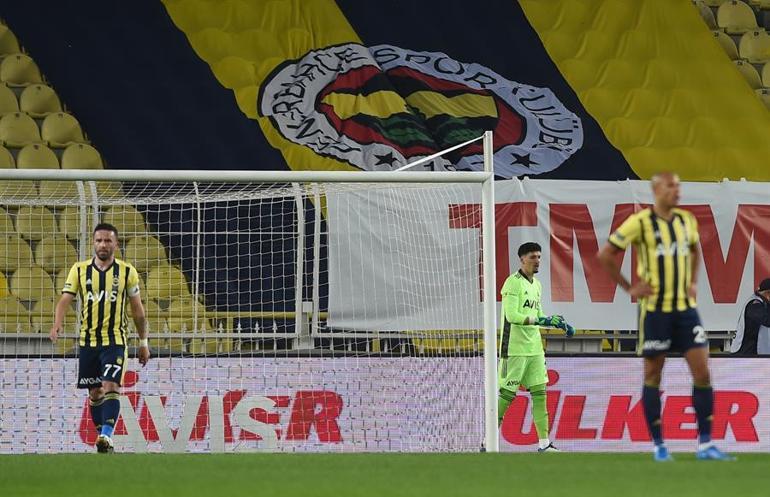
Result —
[[688, 289], [698, 222], [684, 209], [671, 212], [671, 219], [666, 221], [652, 208], [641, 210], [629, 216], [609, 239], [621, 250], [636, 245], [637, 274], [652, 287], [652, 295], [639, 302], [648, 311], [684, 311], [696, 305]]

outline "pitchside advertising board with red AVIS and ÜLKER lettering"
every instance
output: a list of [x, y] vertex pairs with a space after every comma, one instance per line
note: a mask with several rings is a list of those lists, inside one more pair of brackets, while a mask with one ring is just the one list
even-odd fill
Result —
[[[547, 362], [554, 444], [650, 450], [641, 359]], [[714, 439], [734, 452], [770, 450], [770, 361], [717, 358], [711, 370]], [[0, 372], [0, 453], [94, 450], [77, 360], [0, 359]], [[482, 392], [479, 357], [153, 359], [126, 375], [115, 441], [123, 452], [474, 452]], [[690, 393], [685, 363], [669, 359], [662, 421], [675, 451], [695, 448]], [[536, 448], [526, 392], [500, 435], [502, 451]]]

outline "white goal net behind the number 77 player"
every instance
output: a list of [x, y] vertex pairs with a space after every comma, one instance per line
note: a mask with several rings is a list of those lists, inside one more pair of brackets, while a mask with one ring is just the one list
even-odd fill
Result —
[[153, 354], [139, 366], [132, 331], [117, 450], [477, 451], [496, 433], [487, 173], [16, 173], [0, 185], [0, 453], [92, 450], [79, 300], [48, 333], [99, 222], [140, 274]]

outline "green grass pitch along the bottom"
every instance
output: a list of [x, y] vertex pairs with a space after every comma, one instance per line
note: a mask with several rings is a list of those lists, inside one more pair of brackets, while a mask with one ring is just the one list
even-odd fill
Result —
[[770, 454], [113, 454], [0, 456], [0, 495], [766, 496]]

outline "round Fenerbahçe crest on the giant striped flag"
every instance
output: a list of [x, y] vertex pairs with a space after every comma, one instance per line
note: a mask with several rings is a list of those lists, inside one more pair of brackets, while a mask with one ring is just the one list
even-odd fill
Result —
[[[392, 170], [494, 133], [495, 174], [559, 167], [583, 144], [580, 118], [548, 88], [440, 52], [347, 43], [286, 61], [257, 103], [288, 140], [364, 170]], [[426, 164], [481, 170], [481, 144]]]

